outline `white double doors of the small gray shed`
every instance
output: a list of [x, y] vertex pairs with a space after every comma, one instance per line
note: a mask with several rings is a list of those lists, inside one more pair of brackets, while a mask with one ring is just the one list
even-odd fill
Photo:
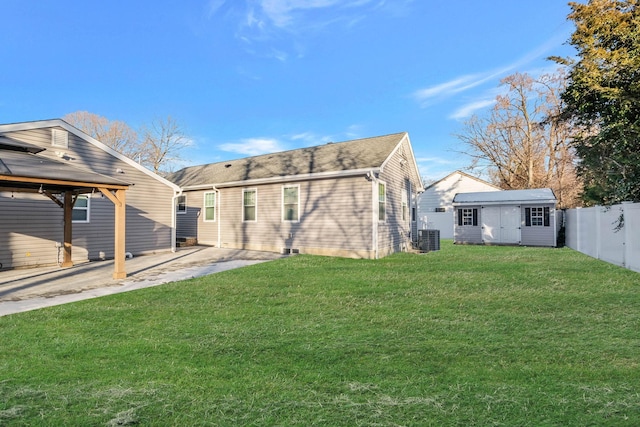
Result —
[[485, 243], [520, 243], [520, 206], [482, 208], [482, 240]]

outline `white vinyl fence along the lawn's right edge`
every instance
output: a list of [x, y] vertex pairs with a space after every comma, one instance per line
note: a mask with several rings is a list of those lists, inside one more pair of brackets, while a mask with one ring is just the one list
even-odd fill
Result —
[[640, 203], [568, 209], [565, 232], [571, 249], [640, 272]]

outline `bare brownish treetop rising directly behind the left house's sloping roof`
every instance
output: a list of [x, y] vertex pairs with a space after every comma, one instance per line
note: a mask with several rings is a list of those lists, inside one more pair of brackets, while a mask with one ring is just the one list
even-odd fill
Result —
[[127, 157], [136, 159], [140, 153], [138, 134], [125, 122], [88, 111], [69, 113], [63, 120]]

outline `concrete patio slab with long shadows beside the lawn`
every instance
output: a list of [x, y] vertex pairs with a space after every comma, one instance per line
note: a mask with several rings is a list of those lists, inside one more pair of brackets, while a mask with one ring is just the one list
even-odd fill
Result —
[[127, 259], [127, 277], [113, 279], [113, 260], [70, 268], [0, 271], [0, 316], [191, 279], [281, 258], [271, 252], [195, 246]]

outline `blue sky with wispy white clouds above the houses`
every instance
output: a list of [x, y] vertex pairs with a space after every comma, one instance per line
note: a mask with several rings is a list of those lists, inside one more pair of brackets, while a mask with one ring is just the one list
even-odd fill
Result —
[[3, 0], [0, 123], [168, 115], [184, 165], [409, 132], [423, 177], [514, 72], [572, 53], [562, 0]]

